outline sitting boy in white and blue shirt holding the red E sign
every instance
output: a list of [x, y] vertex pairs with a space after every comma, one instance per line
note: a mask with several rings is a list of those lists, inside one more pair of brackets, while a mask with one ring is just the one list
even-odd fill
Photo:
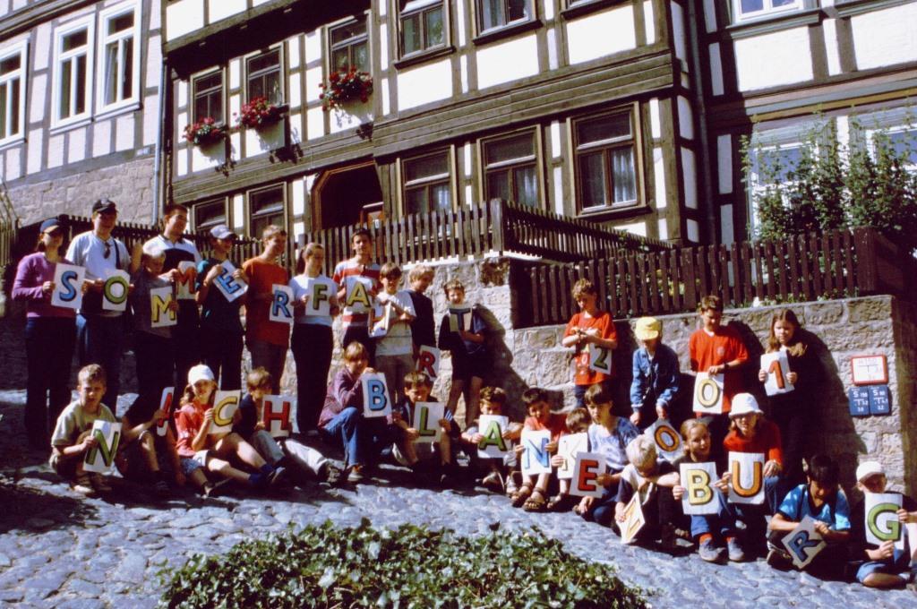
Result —
[[612, 526], [618, 497], [618, 482], [621, 481], [621, 472], [627, 465], [625, 449], [631, 440], [640, 435], [640, 431], [630, 420], [612, 414], [612, 393], [602, 385], [592, 385], [586, 390], [584, 399], [592, 417], [592, 425], [589, 426], [589, 449], [602, 455], [607, 471], [595, 479], [595, 482], [605, 488], [602, 497], [583, 497], [574, 511], [586, 520], [602, 526]]

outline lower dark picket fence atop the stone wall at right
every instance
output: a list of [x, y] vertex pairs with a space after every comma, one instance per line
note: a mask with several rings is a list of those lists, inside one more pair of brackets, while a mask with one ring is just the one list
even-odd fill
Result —
[[658, 252], [619, 252], [573, 264], [534, 264], [521, 288], [521, 326], [560, 324], [579, 310], [571, 290], [590, 279], [614, 317], [695, 311], [717, 295], [727, 307], [891, 293], [914, 296], [917, 263], [872, 228]]

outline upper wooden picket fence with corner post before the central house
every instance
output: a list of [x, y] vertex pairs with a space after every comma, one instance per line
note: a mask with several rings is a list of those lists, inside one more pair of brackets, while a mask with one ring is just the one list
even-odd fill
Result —
[[305, 235], [305, 241], [326, 248], [326, 269], [349, 258], [350, 238], [367, 228], [374, 260], [408, 262], [516, 253], [557, 261], [575, 261], [624, 251], [662, 251], [668, 243], [604, 228], [494, 199], [458, 210], [411, 214], [367, 225], [326, 228]]

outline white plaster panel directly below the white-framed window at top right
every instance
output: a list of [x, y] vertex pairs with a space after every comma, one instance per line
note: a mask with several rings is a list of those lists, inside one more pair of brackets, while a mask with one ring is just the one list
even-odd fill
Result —
[[740, 91], [812, 80], [809, 28], [790, 28], [735, 40]]

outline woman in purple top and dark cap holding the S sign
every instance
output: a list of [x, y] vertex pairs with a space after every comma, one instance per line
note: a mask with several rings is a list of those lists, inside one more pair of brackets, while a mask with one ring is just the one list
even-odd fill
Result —
[[[76, 342], [76, 311], [51, 305], [54, 269], [61, 256], [63, 229], [57, 219], [45, 220], [34, 254], [19, 260], [13, 300], [27, 303], [26, 432], [32, 448], [50, 448], [50, 430], [70, 403], [70, 364]], [[50, 393], [50, 397], [49, 397]]]

